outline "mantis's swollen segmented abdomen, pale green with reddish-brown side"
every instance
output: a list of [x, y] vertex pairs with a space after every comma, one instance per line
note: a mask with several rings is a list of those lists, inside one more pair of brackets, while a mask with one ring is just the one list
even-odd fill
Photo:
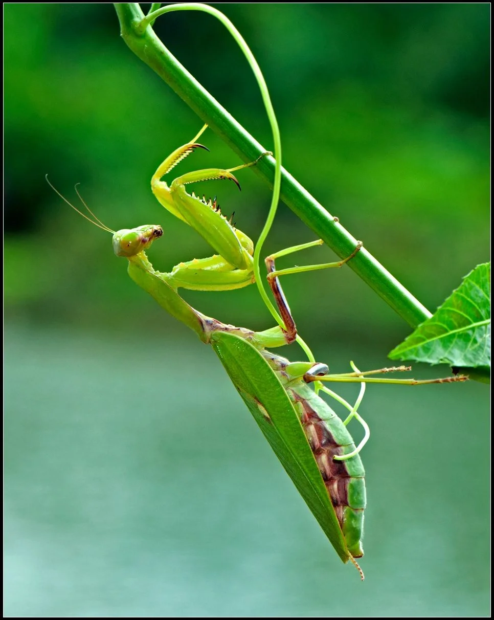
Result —
[[366, 506], [364, 467], [358, 454], [346, 461], [336, 455], [355, 450], [355, 444], [342, 420], [308, 386], [287, 389], [300, 415], [319, 471], [331, 497], [348, 551], [362, 557], [364, 508]]

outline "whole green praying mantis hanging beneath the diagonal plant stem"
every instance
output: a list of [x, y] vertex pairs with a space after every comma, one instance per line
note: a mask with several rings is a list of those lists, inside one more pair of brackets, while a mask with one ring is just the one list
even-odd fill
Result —
[[[99, 228], [113, 234], [113, 250], [118, 256], [128, 259], [128, 273], [136, 284], [151, 294], [172, 316], [195, 331], [203, 342], [213, 346], [240, 396], [338, 555], [344, 562], [350, 559], [358, 567], [355, 558], [363, 556], [361, 541], [363, 510], [366, 505], [364, 468], [359, 451], [368, 438], [368, 427], [359, 417], [357, 409], [365, 384], [449, 383], [463, 381], [466, 378], [456, 376], [415, 381], [415, 379], [376, 379], [367, 376], [380, 372], [408, 370], [404, 366], [364, 373], [353, 366], [353, 373], [335, 375], [329, 374], [326, 365], [315, 363], [313, 359], [291, 363], [268, 351], [268, 348], [281, 347], [299, 339], [278, 276], [315, 268], [340, 266], [358, 252], [360, 244], [349, 257], [340, 262], [294, 267], [278, 272], [274, 267], [276, 257], [311, 247], [319, 242], [281, 250], [268, 257], [268, 280], [283, 317], [284, 327], [277, 325], [263, 332], [253, 332], [224, 324], [192, 308], [179, 295], [178, 288], [230, 290], [247, 286], [254, 281], [252, 241], [221, 215], [216, 200], [200, 200], [195, 195], [188, 194], [185, 185], [208, 179], [231, 179], [237, 182], [232, 172], [255, 162], [234, 169], [205, 169], [191, 172], [178, 177], [170, 186], [161, 181], [162, 175], [169, 172], [195, 148], [201, 146], [196, 140], [204, 130], [205, 127], [193, 140], [176, 149], [164, 160], [153, 175], [151, 185], [160, 203], [170, 213], [199, 232], [213, 249], [219, 252], [218, 255], [180, 263], [170, 273], [157, 272], [149, 262], [145, 250], [155, 239], [163, 235], [161, 226], [152, 224], [115, 232], [96, 218], [85, 203], [84, 206], [92, 218], [81, 213], [75, 206], [71, 206]], [[352, 407], [337, 394], [322, 386], [322, 382], [330, 381], [360, 383], [361, 394], [356, 404]], [[344, 422], [309, 387], [311, 383], [315, 383], [317, 389], [328, 392], [350, 410], [350, 415]], [[346, 429], [346, 424], [353, 417], [362, 422], [366, 429], [366, 436], [358, 447]], [[363, 577], [362, 572], [361, 575]]]

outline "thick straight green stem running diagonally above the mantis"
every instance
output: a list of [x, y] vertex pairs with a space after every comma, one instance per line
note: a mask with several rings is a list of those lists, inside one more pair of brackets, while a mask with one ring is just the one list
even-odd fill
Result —
[[[150, 25], [142, 28], [144, 14], [136, 2], [115, 3], [121, 36], [128, 47], [194, 110], [198, 117], [217, 133], [245, 162], [254, 161], [265, 149], [212, 97], [182, 64], [165, 48]], [[263, 157], [254, 171], [273, 185], [275, 164]], [[356, 246], [355, 237], [335, 221], [286, 170], [282, 169], [281, 200], [311, 228], [338, 256], [345, 258]], [[404, 321], [417, 327], [431, 313], [413, 297], [363, 247], [348, 262], [361, 277]]]

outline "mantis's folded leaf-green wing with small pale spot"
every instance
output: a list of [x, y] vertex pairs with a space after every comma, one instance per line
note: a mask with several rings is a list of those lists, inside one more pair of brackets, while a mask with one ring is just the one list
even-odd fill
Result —
[[233, 334], [215, 332], [211, 344], [271, 448], [319, 525], [347, 562], [350, 553], [298, 414], [260, 352]]

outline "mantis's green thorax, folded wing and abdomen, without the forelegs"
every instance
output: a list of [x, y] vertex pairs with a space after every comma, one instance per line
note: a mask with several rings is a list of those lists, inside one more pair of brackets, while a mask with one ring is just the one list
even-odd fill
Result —
[[[120, 238], [121, 243], [126, 234]], [[148, 245], [149, 239], [161, 234], [161, 227], [144, 228], [143, 244]], [[144, 251], [128, 256], [128, 260], [130, 277], [162, 308], [193, 329], [203, 342], [213, 345], [338, 555], [344, 562], [351, 559], [355, 563], [354, 557], [363, 556], [363, 465], [342, 420], [307, 384], [319, 378], [319, 373], [326, 375], [327, 366], [312, 362], [293, 364], [268, 352], [267, 347], [287, 343], [281, 327], [252, 332], [196, 311], [172, 288], [168, 274], [152, 268]], [[345, 461], [333, 459], [345, 454], [353, 456]]]

